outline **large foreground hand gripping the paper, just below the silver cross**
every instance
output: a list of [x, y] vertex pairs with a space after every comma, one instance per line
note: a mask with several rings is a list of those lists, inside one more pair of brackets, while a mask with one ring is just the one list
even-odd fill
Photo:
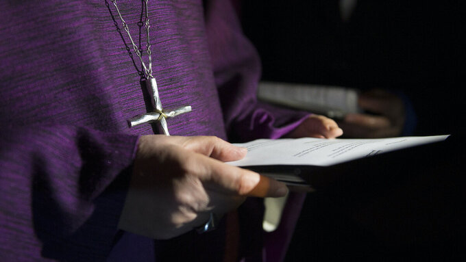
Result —
[[182, 235], [236, 209], [247, 196], [278, 197], [286, 185], [222, 161], [247, 150], [217, 137], [140, 137], [119, 227], [156, 239]]

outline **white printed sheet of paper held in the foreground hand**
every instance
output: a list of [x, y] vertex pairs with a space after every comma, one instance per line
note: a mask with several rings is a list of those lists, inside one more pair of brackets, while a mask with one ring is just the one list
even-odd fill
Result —
[[310, 165], [331, 166], [384, 152], [445, 140], [449, 135], [390, 137], [380, 139], [260, 139], [244, 144], [247, 155], [232, 166]]

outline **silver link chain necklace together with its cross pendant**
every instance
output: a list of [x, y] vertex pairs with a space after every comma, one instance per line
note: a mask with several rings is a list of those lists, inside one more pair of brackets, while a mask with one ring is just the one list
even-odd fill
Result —
[[[152, 124], [154, 122], [158, 122], [160, 124], [160, 128], [162, 129], [160, 131], [163, 131], [163, 133], [165, 135], [170, 135], [169, 129], [168, 129], [168, 126], [167, 126], [167, 118], [171, 118], [171, 117], [177, 116], [179, 114], [190, 112], [191, 111], [191, 106], [188, 105], [188, 106], [185, 106], [185, 107], [180, 107], [178, 109], [175, 109], [175, 110], [169, 111], [169, 112], [165, 112], [162, 109], [162, 103], [160, 102], [160, 97], [158, 95], [157, 82], [156, 82], [156, 79], [152, 76], [151, 44], [150, 44], [150, 39], [149, 39], [150, 25], [149, 25], [149, 14], [148, 14], [148, 8], [147, 8], [147, 2], [149, 0], [144, 0], [145, 1], [145, 28], [146, 28], [146, 32], [147, 32], [146, 52], [147, 52], [147, 55], [149, 56], [149, 66], [146, 66], [146, 64], [144, 63], [143, 55], [141, 54], [138, 47], [134, 43], [134, 40], [133, 40], [133, 38], [132, 38], [132, 36], [130, 34], [130, 29], [128, 29], [127, 23], [123, 19], [123, 16], [121, 16], [121, 12], [120, 12], [120, 10], [118, 8], [118, 5], [116, 5], [116, 0], [110, 0], [110, 1], [112, 1], [113, 5], [115, 6], [116, 12], [118, 12], [121, 24], [123, 25], [123, 29], [125, 29], [127, 36], [131, 40], [131, 44], [133, 46], [134, 53], [136, 53], [136, 55], [139, 57], [140, 63], [143, 66], [143, 75], [141, 75], [141, 77], [143, 77], [143, 79], [140, 81], [140, 85], [147, 90], [147, 93], [149, 94], [149, 96], [151, 98], [150, 105], [149, 105], [150, 110], [148, 110], [148, 112], [146, 114], [141, 114], [139, 116], [136, 116], [135, 118], [130, 118], [129, 120], [127, 120], [128, 125], [130, 127], [134, 127], [134, 126], [140, 125], [140, 124], [146, 124], [146, 123], [147, 124]], [[111, 14], [111, 12], [110, 12], [110, 14]], [[113, 18], [113, 15], [112, 15], [112, 18]], [[117, 28], [117, 31], [119, 31], [119, 27], [118, 27], [116, 21], [114, 21], [114, 23], [115, 23], [115, 26]], [[128, 52], [130, 53], [130, 57], [132, 57], [131, 51], [128, 51]], [[136, 70], [137, 70], [137, 68], [136, 68]]]

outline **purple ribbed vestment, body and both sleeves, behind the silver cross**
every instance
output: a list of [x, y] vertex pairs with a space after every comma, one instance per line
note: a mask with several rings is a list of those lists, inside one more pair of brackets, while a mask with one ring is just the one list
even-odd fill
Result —
[[[144, 49], [141, 1], [117, 3]], [[167, 245], [116, 228], [138, 135], [152, 129], [127, 127], [145, 112], [140, 63], [106, 1], [1, 1], [0, 10], [0, 260], [154, 261]], [[256, 102], [260, 63], [229, 1], [149, 1], [149, 18], [162, 105], [193, 107], [168, 120], [172, 135], [276, 138], [306, 116]], [[204, 252], [212, 239], [193, 242]]]

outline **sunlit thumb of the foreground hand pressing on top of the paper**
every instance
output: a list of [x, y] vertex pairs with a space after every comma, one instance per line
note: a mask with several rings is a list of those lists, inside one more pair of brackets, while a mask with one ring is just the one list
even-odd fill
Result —
[[234, 146], [214, 136], [188, 137], [184, 148], [220, 161], [236, 161], [246, 156], [247, 149]]

